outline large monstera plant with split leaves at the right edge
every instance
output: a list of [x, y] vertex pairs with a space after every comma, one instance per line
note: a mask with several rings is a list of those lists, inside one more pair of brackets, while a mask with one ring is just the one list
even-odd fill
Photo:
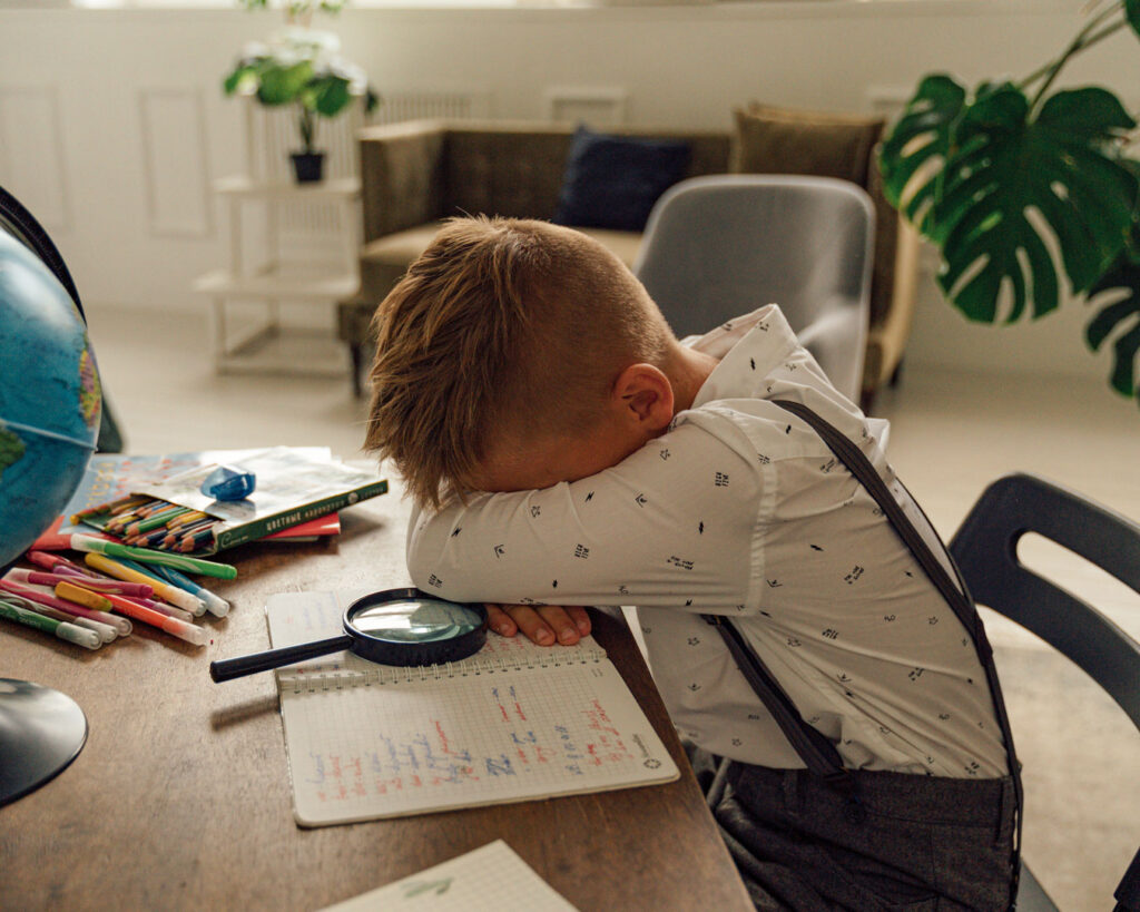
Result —
[[1083, 301], [1086, 344], [1110, 344], [1110, 385], [1140, 402], [1137, 122], [1105, 88], [1051, 91], [1073, 57], [1119, 31], [1140, 36], [1140, 0], [1094, 3], [1068, 47], [1020, 81], [969, 91], [927, 75], [879, 166], [887, 198], [938, 249], [951, 303], [1013, 323]]

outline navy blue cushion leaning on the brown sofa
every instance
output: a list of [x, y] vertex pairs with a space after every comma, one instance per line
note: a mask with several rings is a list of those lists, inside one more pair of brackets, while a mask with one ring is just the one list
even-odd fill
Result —
[[687, 142], [575, 132], [555, 225], [641, 231], [658, 197], [685, 177]]

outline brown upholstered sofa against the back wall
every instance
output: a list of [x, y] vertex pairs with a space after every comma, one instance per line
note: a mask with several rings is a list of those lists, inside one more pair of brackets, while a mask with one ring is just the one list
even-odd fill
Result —
[[[738, 112], [738, 121], [747, 116]], [[881, 122], [879, 123], [881, 130]], [[777, 142], [757, 155], [756, 144], [741, 146], [741, 130], [698, 131], [669, 129], [611, 129], [626, 137], [681, 140], [691, 154], [682, 178], [725, 173], [732, 170], [766, 170], [774, 173], [816, 173], [812, 156], [797, 153], [796, 142]], [[408, 264], [427, 246], [442, 219], [457, 214], [487, 213], [515, 218], [551, 219], [563, 185], [567, 155], [576, 133], [573, 124], [536, 122], [412, 121], [367, 128], [360, 133], [360, 174], [364, 237], [360, 251], [360, 288], [337, 308], [337, 332], [352, 352], [353, 380], [359, 394], [361, 374], [370, 357], [370, 321], [376, 304], [404, 275]], [[765, 133], [769, 137], [771, 133]], [[816, 135], [797, 135], [813, 147], [823, 144]], [[747, 137], [746, 137], [747, 140]], [[771, 142], [768, 144], [771, 145]], [[871, 325], [863, 377], [863, 404], [870, 407], [874, 392], [896, 374], [902, 359], [918, 271], [918, 239], [882, 197], [878, 171], [869, 168], [871, 147], [844, 158], [863, 155], [849, 174], [857, 178], [876, 204], [879, 227], [871, 288]], [[783, 150], [783, 152], [782, 152]], [[789, 161], [781, 161], [787, 153]], [[766, 157], [765, 157], [766, 156]], [[773, 157], [774, 156], [774, 157]], [[757, 165], [760, 166], [757, 166]], [[767, 166], [764, 166], [767, 164]], [[831, 165], [820, 163], [823, 171]], [[842, 166], [850, 170], [849, 163]], [[641, 243], [640, 231], [584, 228], [633, 266]]]

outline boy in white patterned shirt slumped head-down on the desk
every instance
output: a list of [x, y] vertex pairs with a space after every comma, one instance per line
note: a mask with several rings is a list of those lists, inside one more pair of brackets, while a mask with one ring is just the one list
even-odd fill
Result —
[[[774, 401], [854, 441], [936, 542], [777, 308], [683, 345], [601, 245], [480, 218], [440, 231], [376, 327], [366, 447], [417, 503], [413, 579], [544, 644], [588, 632], [560, 605], [637, 605], [674, 723], [733, 760], [716, 813], [757, 907], [1010, 905], [1000, 695], [882, 508]], [[841, 788], [702, 616], [838, 751]]]

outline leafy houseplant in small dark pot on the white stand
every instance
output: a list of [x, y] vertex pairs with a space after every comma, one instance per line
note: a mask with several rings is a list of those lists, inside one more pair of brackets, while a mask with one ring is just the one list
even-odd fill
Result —
[[[246, 8], [267, 0], [241, 0]], [[335, 117], [351, 104], [372, 111], [378, 101], [364, 71], [340, 57], [340, 39], [312, 28], [316, 10], [336, 13], [341, 2], [296, 0], [285, 5], [286, 25], [266, 42], [247, 44], [222, 83], [228, 96], [253, 96], [270, 107], [292, 106], [301, 147], [292, 153], [299, 182], [320, 180], [324, 153], [316, 146], [320, 117]]]

